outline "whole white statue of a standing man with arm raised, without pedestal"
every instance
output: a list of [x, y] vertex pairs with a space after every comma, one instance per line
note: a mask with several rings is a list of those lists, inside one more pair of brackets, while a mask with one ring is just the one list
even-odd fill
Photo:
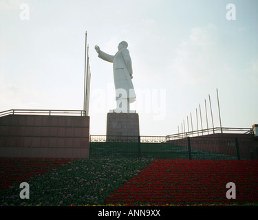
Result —
[[130, 111], [130, 103], [136, 100], [136, 94], [133, 89], [133, 83], [131, 82], [133, 69], [131, 67], [131, 57], [127, 47], [127, 42], [122, 41], [118, 45], [118, 52], [114, 56], [111, 56], [101, 51], [98, 45], [95, 46], [99, 58], [113, 63], [116, 89], [116, 109], [114, 109], [113, 112], [116, 113], [135, 112]]

